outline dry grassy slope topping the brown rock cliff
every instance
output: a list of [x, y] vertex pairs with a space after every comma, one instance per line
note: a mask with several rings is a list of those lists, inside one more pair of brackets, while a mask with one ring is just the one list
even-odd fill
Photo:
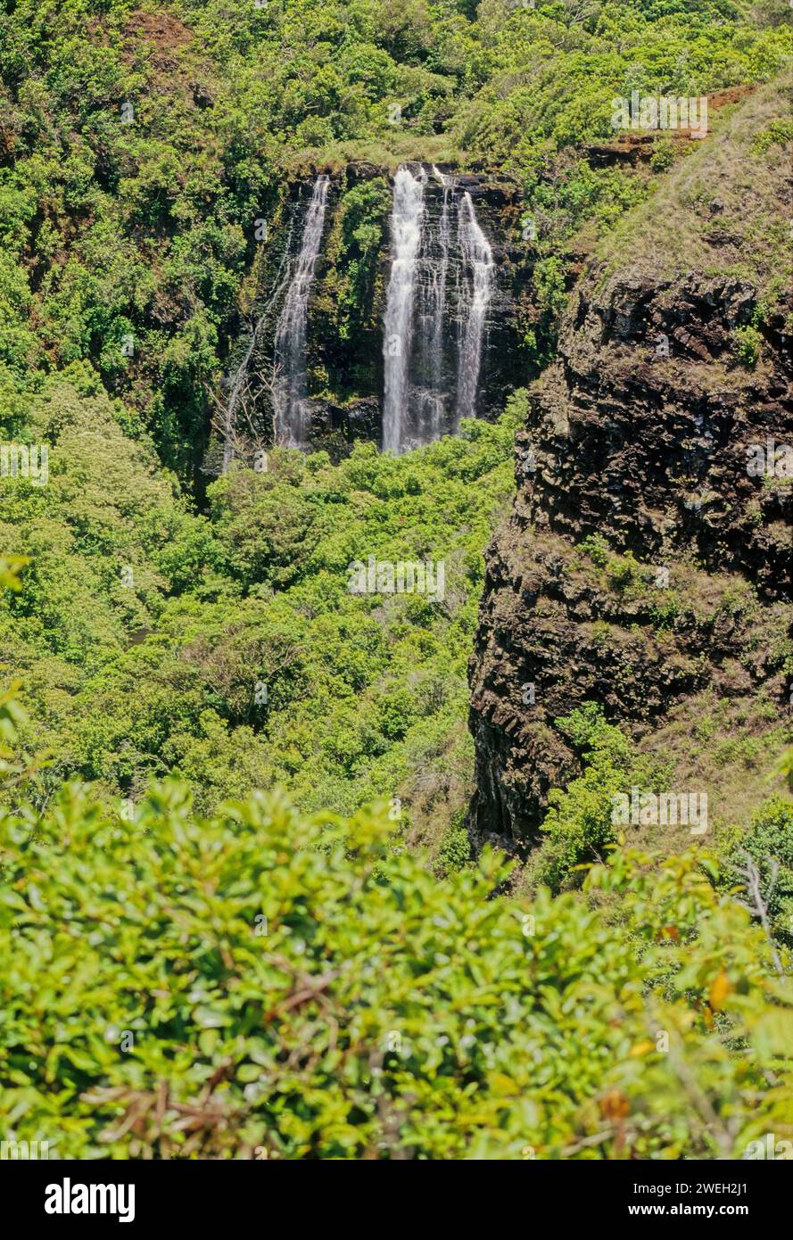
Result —
[[605, 284], [633, 264], [655, 278], [735, 273], [758, 293], [791, 283], [791, 88], [761, 86], [712, 118], [651, 197], [605, 238]]

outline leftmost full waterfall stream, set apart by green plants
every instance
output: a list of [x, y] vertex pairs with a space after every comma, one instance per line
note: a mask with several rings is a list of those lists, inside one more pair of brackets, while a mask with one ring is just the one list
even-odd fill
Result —
[[275, 331], [273, 373], [275, 440], [287, 448], [305, 448], [309, 433], [306, 403], [306, 329], [313, 267], [322, 244], [330, 179], [313, 182], [306, 212], [295, 274], [289, 285]]

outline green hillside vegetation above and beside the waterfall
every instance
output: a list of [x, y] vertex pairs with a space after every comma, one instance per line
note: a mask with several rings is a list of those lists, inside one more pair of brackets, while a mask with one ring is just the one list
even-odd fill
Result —
[[[256, 219], [273, 222], [312, 164], [356, 157], [483, 161], [519, 179], [549, 260], [527, 340], [541, 365], [560, 246], [648, 190], [586, 159], [613, 136], [613, 98], [766, 81], [789, 52], [773, 5], [747, 21], [721, 0], [19, 0], [0, 17], [2, 419], [20, 392], [88, 361], [195, 481]], [[344, 203], [348, 332], [373, 275], [378, 192], [354, 187]]]

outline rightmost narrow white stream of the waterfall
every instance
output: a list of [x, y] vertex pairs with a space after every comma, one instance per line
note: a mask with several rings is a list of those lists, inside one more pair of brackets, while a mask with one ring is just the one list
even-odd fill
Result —
[[[461, 418], [473, 418], [480, 386], [484, 315], [493, 291], [493, 252], [476, 218], [466, 191], [457, 219], [457, 243], [463, 262], [460, 298], [460, 360], [457, 367], [457, 427]], [[465, 326], [463, 326], [465, 319]], [[455, 429], [457, 429], [457, 427]]]

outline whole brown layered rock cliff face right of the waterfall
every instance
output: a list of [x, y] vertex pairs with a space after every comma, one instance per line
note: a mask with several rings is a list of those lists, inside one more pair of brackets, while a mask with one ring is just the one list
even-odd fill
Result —
[[[470, 668], [480, 838], [537, 839], [550, 789], [576, 770], [554, 719], [584, 701], [644, 740], [709, 694], [782, 718], [791, 306], [762, 247], [753, 269], [732, 262], [738, 190], [714, 166], [742, 131], [695, 156], [705, 201], [691, 210], [673, 182], [658, 203], [677, 202], [696, 244], [639, 236], [592, 259], [529, 394]], [[747, 202], [753, 226], [784, 218], [777, 164]], [[740, 347], [757, 347], [753, 370]]]

